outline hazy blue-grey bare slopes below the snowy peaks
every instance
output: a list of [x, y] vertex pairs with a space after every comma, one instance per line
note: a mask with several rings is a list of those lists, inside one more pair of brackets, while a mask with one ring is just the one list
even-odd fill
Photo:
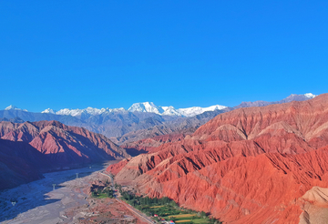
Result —
[[[219, 113], [231, 110], [214, 110], [194, 117], [158, 115], [149, 112], [115, 110], [90, 115], [77, 113], [76, 116], [56, 115], [51, 113], [32, 113], [24, 110], [0, 110], [4, 120], [20, 117], [21, 120], [35, 122], [40, 120], [57, 120], [68, 126], [85, 127], [88, 130], [111, 137], [117, 144], [132, 142], [146, 137], [166, 135], [172, 132], [186, 133], [196, 130]], [[74, 112], [74, 111], [73, 111]]]

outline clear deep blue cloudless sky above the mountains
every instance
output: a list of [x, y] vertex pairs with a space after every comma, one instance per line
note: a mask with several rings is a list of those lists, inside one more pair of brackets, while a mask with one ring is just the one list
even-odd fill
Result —
[[0, 1], [0, 109], [326, 93], [328, 1]]

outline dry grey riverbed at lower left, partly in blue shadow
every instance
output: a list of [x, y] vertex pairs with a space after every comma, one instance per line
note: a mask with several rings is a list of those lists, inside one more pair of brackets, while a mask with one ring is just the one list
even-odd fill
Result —
[[79, 223], [79, 216], [68, 217], [67, 211], [89, 207], [86, 189], [107, 166], [46, 173], [45, 178], [0, 192], [0, 223]]

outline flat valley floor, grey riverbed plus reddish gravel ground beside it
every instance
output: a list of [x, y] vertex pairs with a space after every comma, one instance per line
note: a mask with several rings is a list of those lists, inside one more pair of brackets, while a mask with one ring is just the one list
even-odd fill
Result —
[[[142, 223], [116, 199], [89, 197], [91, 182], [106, 179], [99, 171], [107, 166], [47, 173], [43, 179], [0, 192], [0, 222], [56, 224], [97, 219], [104, 223]], [[16, 201], [15, 206], [12, 201]]]

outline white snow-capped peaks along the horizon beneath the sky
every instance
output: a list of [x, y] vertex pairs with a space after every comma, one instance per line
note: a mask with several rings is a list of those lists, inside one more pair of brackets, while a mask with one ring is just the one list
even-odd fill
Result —
[[[292, 94], [289, 97], [286, 97], [285, 101], [292, 101], [292, 100], [304, 100], [304, 99], [311, 99], [313, 97], [316, 97], [316, 95], [313, 95], [312, 93], [307, 93], [303, 95], [295, 95]], [[257, 101], [259, 102], [259, 101]], [[264, 102], [264, 101], [263, 101]], [[256, 102], [255, 102], [256, 103]], [[253, 103], [252, 103], [253, 104]], [[251, 105], [251, 107], [254, 107], [256, 105]], [[161, 106], [156, 106], [152, 102], [144, 102], [144, 103], [135, 103], [131, 107], [126, 110], [123, 107], [120, 108], [93, 108], [93, 107], [87, 107], [85, 109], [60, 109], [58, 111], [53, 110], [51, 108], [47, 108], [46, 110], [42, 111], [41, 113], [45, 114], [55, 114], [55, 115], [67, 115], [67, 116], [72, 116], [72, 117], [92, 117], [96, 115], [101, 115], [101, 114], [109, 114], [112, 112], [149, 112], [149, 113], [155, 113], [160, 116], [178, 116], [178, 117], [193, 117], [200, 115], [206, 111], [215, 111], [215, 110], [222, 110], [224, 108], [227, 108], [225, 106], [220, 106], [220, 105], [214, 105], [210, 107], [188, 107], [188, 108], [174, 108], [172, 106], [169, 107], [161, 107]], [[15, 106], [9, 106], [6, 107], [5, 110], [23, 110]], [[24, 109], [23, 111], [27, 111]]]

